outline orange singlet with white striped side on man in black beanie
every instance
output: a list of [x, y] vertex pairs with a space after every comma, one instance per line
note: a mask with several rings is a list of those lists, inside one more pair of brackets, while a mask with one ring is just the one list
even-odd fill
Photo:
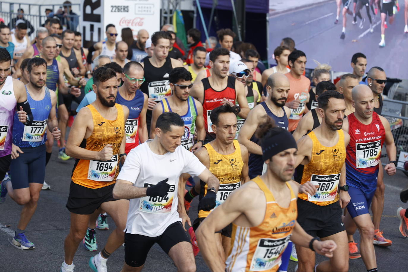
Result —
[[231, 250], [226, 260], [226, 272], [276, 272], [295, 227], [297, 202], [289, 182], [286, 185], [290, 190], [290, 203], [288, 208], [282, 208], [259, 176], [252, 181], [265, 194], [265, 217], [256, 227], [245, 228], [232, 224]]

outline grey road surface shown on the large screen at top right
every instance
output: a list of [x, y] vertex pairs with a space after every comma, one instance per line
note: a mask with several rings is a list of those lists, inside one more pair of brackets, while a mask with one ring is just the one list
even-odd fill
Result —
[[[407, 79], [408, 34], [404, 34], [404, 1], [399, 1], [399, 4], [401, 9], [395, 15], [395, 22], [388, 23], [384, 48], [378, 46], [381, 40], [380, 15], [375, 16], [374, 33], [370, 33], [365, 7], [361, 9], [362, 17], [366, 18], [363, 29], [359, 28], [359, 24], [353, 25], [352, 16], [347, 15], [344, 40], [340, 39], [341, 13], [339, 23], [334, 24], [337, 11], [335, 1], [275, 15], [269, 18], [269, 58], [282, 38], [291, 37], [295, 40], [296, 48], [306, 53], [308, 68], [314, 69], [316, 65], [313, 60], [317, 60], [330, 64], [333, 71], [352, 72], [351, 57], [354, 53], [362, 52], [367, 56], [367, 69], [380, 66], [388, 77]], [[275, 64], [275, 60], [271, 62], [270, 59], [269, 63]]]

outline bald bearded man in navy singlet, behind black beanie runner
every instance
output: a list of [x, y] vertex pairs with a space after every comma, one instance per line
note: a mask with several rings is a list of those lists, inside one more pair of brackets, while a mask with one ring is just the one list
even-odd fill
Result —
[[270, 99], [261, 102], [248, 113], [244, 125], [238, 135], [238, 141], [248, 148], [249, 177], [255, 178], [263, 174], [266, 167], [262, 161], [262, 149], [260, 141], [254, 134], [260, 124], [265, 122], [265, 116], [273, 119], [275, 126], [288, 129], [290, 109], [285, 106], [290, 90], [289, 80], [282, 73], [273, 73], [269, 76], [266, 84], [266, 91]]

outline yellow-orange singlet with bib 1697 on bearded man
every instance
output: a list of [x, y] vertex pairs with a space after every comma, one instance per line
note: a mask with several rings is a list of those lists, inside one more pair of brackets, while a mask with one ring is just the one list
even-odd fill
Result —
[[310, 162], [304, 166], [302, 182], [310, 181], [318, 185], [315, 195], [299, 194], [299, 198], [326, 206], [339, 200], [338, 187], [340, 172], [346, 159], [346, 148], [344, 147], [343, 130], [337, 130], [339, 141], [335, 146], [324, 146], [320, 144], [315, 132], [312, 130], [308, 136], [313, 141], [312, 157]]

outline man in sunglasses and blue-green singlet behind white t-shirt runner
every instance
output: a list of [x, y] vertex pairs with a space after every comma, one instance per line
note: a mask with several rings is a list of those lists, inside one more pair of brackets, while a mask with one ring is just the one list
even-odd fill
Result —
[[[183, 67], [176, 67], [169, 74], [172, 95], [164, 97], [153, 108], [150, 137], [154, 138], [157, 118], [164, 112], [172, 111], [181, 116], [184, 121], [184, 135], [181, 145], [187, 150], [195, 151], [203, 146], [205, 139], [203, 107], [196, 99], [191, 97], [193, 86], [191, 73]], [[197, 130], [197, 132], [195, 132]], [[194, 136], [197, 142], [194, 143]]]

